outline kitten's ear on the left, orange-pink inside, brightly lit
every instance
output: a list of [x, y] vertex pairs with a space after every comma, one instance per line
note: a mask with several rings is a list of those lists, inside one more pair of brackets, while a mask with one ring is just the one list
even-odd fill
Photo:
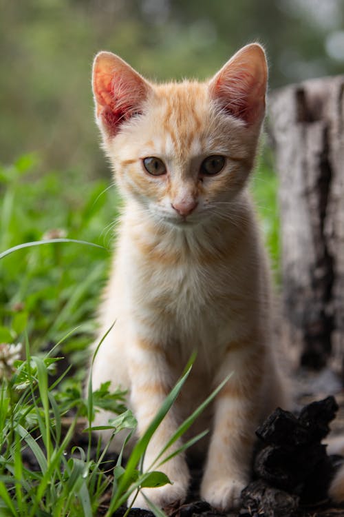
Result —
[[115, 136], [121, 123], [140, 113], [151, 89], [138, 72], [111, 52], [96, 55], [92, 85], [96, 119], [107, 136]]

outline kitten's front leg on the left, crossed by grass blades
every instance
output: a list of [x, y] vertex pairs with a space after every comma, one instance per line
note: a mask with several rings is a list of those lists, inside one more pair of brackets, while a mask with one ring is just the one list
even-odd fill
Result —
[[[138, 420], [138, 435], [142, 436], [158, 412], [164, 398], [169, 394], [171, 372], [163, 347], [148, 338], [136, 338], [135, 341], [131, 341], [129, 365], [131, 407]], [[178, 417], [175, 414], [175, 407], [171, 407], [149, 442], [144, 456], [144, 471], [151, 469], [155, 458], [158, 457], [177, 428]], [[134, 507], [149, 509], [142, 492], [161, 508], [178, 505], [185, 499], [189, 485], [189, 469], [184, 456], [180, 454], [159, 466], [162, 459], [169, 456], [180, 445], [180, 440], [177, 440], [153, 466], [154, 470], [164, 472], [171, 480], [172, 485], [142, 489], [133, 502]], [[129, 503], [133, 501], [133, 497]]]

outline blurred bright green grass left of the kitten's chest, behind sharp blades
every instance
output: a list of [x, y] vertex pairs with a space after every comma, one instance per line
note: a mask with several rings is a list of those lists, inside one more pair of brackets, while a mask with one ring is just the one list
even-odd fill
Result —
[[94, 332], [94, 311], [114, 241], [111, 221], [120, 201], [106, 181], [80, 181], [73, 171], [38, 178], [34, 170], [34, 156], [0, 168], [0, 253], [49, 233], [58, 236], [56, 230], [102, 248], [60, 243], [2, 259], [0, 343], [20, 341], [25, 331], [36, 352], [78, 327], [62, 349], [80, 365]]

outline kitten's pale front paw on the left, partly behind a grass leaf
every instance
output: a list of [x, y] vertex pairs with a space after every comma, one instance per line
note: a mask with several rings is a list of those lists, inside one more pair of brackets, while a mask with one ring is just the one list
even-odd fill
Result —
[[129, 498], [128, 506], [133, 503], [133, 508], [150, 510], [151, 508], [147, 503], [147, 499], [144, 498], [144, 496], [146, 496], [155, 506], [158, 506], [159, 508], [178, 507], [184, 502], [184, 499], [186, 498], [186, 492], [187, 486], [185, 486], [183, 483], [178, 483], [178, 481], [175, 481], [173, 485], [164, 485], [164, 487], [145, 488], [140, 490], [140, 493], [135, 500], [133, 500], [134, 496]]

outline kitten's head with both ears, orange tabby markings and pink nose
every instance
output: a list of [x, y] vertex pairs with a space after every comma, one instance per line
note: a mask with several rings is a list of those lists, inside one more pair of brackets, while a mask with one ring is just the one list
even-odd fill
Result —
[[114, 54], [98, 54], [96, 118], [122, 194], [166, 225], [223, 217], [252, 168], [266, 70], [253, 44], [211, 81], [154, 85]]

